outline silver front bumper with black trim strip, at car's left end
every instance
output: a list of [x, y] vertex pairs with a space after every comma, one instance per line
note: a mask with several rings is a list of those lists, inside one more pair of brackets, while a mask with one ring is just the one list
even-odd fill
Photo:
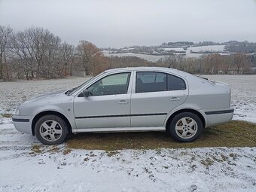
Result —
[[31, 116], [18, 116], [12, 117], [16, 130], [22, 133], [28, 133], [32, 135], [32, 117]]

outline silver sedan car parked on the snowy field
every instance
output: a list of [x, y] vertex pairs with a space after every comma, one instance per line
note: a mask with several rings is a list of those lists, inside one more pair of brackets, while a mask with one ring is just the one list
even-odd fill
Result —
[[111, 69], [71, 90], [38, 96], [12, 118], [23, 133], [58, 145], [69, 133], [165, 131], [192, 142], [233, 117], [230, 87], [176, 69]]

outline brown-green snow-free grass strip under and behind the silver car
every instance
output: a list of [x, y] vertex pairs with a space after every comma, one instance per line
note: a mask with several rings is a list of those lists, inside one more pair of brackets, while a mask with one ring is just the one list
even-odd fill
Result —
[[[195, 142], [176, 142], [163, 132], [80, 133], [67, 141], [68, 148], [116, 151], [120, 149], [255, 147], [256, 124], [232, 120], [203, 130]], [[222, 157], [223, 158], [223, 157]], [[225, 157], [223, 158], [225, 159]]]

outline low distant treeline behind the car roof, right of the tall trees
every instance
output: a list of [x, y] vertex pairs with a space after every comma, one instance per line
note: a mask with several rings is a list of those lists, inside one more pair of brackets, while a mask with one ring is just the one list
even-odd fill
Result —
[[179, 69], [192, 74], [256, 74], [253, 69], [251, 57], [242, 53], [230, 56], [221, 56], [218, 53], [201, 56], [200, 58], [187, 58], [184, 56], [165, 56], [157, 62], [148, 62], [136, 56], [111, 56], [108, 68], [157, 66]]

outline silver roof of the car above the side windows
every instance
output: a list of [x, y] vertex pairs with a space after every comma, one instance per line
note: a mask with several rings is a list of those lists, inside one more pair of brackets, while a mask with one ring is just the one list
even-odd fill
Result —
[[178, 69], [166, 68], [166, 67], [126, 67], [117, 69], [108, 69], [105, 72], [127, 72], [127, 71], [166, 71], [166, 72], [178, 72]]

